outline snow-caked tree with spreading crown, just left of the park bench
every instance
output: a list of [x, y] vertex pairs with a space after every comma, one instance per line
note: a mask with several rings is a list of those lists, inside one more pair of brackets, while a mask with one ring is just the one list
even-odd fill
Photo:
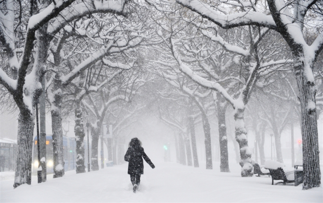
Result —
[[[277, 69], [280, 64], [285, 64], [287, 60], [273, 58], [273, 55], [278, 55], [278, 51], [268, 54], [264, 51], [265, 48], [260, 45], [261, 40], [269, 31], [267, 28], [261, 29], [260, 27], [249, 26], [245, 31], [240, 31], [243, 40], [234, 41], [229, 37], [226, 41], [216, 25], [201, 21], [192, 22], [195, 25], [195, 30], [191, 31], [194, 27], [190, 27], [189, 30], [194, 35], [187, 35], [187, 29], [184, 29], [187, 25], [181, 19], [187, 23], [192, 21], [187, 20], [182, 15], [174, 16], [169, 25], [159, 23], [162, 30], [159, 34], [166, 44], [164, 47], [169, 47], [171, 52], [166, 61], [168, 60], [167, 63], [170, 64], [171, 60], [169, 59], [173, 58], [175, 61], [171, 62], [175, 62], [181, 72], [199, 85], [220, 92], [235, 109], [235, 137], [240, 147], [241, 175], [252, 176], [251, 151], [248, 147], [247, 131], [244, 124], [245, 105], [258, 78], [271, 72], [269, 68], [276, 67]], [[194, 17], [191, 17], [191, 19], [194, 19]], [[201, 32], [196, 28], [201, 29]], [[207, 37], [208, 41], [191, 44], [189, 41], [196, 40], [199, 33]], [[212, 41], [220, 44], [223, 47], [222, 50], [226, 50], [231, 55], [229, 54], [226, 58], [221, 59], [223, 54], [218, 51], [218, 46], [213, 45]], [[165, 63], [165, 61], [163, 62]], [[219, 71], [216, 70], [217, 68]], [[240, 71], [237, 69], [240, 69]], [[228, 71], [228, 73], [232, 71], [231, 75], [221, 75], [221, 72], [225, 71]], [[241, 73], [244, 74], [244, 78], [241, 78]], [[228, 87], [235, 86], [236, 89], [230, 91], [231, 88], [227, 88], [226, 85]]]

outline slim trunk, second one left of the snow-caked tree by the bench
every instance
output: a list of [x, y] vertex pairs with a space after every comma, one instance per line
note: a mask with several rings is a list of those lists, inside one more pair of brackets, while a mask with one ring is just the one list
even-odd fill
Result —
[[202, 122], [203, 122], [203, 130], [205, 136], [205, 155], [207, 161], [207, 169], [212, 169], [212, 145], [211, 145], [211, 132], [210, 132], [210, 124], [208, 122], [207, 115], [202, 112]]

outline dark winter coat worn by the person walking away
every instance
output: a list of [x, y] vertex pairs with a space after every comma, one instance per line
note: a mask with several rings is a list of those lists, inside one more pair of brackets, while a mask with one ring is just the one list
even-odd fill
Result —
[[142, 146], [132, 145], [128, 148], [126, 155], [124, 155], [124, 160], [129, 162], [128, 174], [143, 174], [142, 158], [150, 165], [150, 167], [155, 168], [155, 165], [150, 161]]

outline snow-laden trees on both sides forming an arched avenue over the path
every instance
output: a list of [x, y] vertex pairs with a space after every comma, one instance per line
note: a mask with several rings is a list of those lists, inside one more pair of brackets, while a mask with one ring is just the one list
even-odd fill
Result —
[[[283, 0], [229, 0], [210, 4], [199, 0], [3, 0], [0, 5], [0, 42], [4, 53], [1, 53], [0, 69], [0, 84], [4, 87], [1, 102], [19, 109], [14, 188], [31, 183], [34, 103], [43, 91], [50, 104], [54, 178], [57, 178], [64, 175], [64, 116], [75, 118], [77, 173], [85, 172], [84, 112], [92, 118], [91, 162], [92, 170], [98, 170], [98, 139], [103, 122], [114, 121], [116, 134], [121, 134], [120, 126], [131, 126], [133, 122], [129, 118], [138, 109], [145, 108], [129, 101], [140, 101], [139, 89], [158, 78], [163, 79], [163, 85], [171, 87], [172, 96], [164, 89], [155, 89], [159, 95], [157, 100], [175, 100], [180, 106], [175, 111], [161, 105], [155, 113], [178, 131], [180, 136], [175, 139], [181, 160], [184, 162], [186, 148], [187, 160], [190, 160], [187, 164], [192, 165], [191, 144], [194, 166], [199, 166], [194, 126], [202, 123], [206, 168], [212, 169], [208, 118], [216, 115], [220, 170], [230, 172], [226, 110], [231, 105], [241, 176], [250, 177], [253, 165], [244, 122], [246, 105], [253, 92], [259, 89], [266, 92], [263, 88], [273, 83], [266, 81], [277, 72], [287, 71], [291, 64], [299, 93], [295, 93], [290, 79], [275, 81], [275, 84], [282, 89], [283, 86], [290, 88], [292, 96], [285, 101], [294, 105], [278, 125], [274, 119], [277, 107], [269, 106], [268, 110], [265, 102], [258, 101], [263, 112], [258, 118], [262, 129], [269, 126], [273, 131], [277, 160], [282, 162], [280, 134], [288, 116], [300, 105], [297, 113], [301, 118], [303, 141], [303, 189], [320, 186], [317, 130], [320, 112], [316, 105], [323, 104], [323, 93], [322, 88], [316, 90], [315, 82], [322, 85], [323, 74], [322, 66], [317, 65], [320, 60], [315, 62], [323, 49], [323, 34], [320, 29], [310, 30], [305, 39], [304, 28], [308, 13], [322, 18], [322, 7], [318, 0], [297, 0], [289, 4]], [[318, 21], [315, 23], [319, 26]], [[42, 87], [43, 80], [46, 85]], [[283, 97], [279, 91], [268, 94]], [[12, 100], [15, 105], [10, 104]], [[259, 135], [257, 123], [253, 126]], [[263, 146], [264, 138], [258, 136], [258, 141]], [[263, 161], [262, 152], [260, 156]]]

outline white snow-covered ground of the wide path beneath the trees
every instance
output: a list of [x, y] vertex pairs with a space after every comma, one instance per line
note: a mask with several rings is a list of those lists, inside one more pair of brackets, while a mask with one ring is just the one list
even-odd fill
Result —
[[[201, 164], [201, 163], [200, 163]], [[271, 178], [240, 176], [240, 166], [230, 164], [231, 173], [219, 172], [219, 162], [213, 170], [157, 162], [152, 169], [145, 163], [139, 191], [132, 192], [127, 163], [106, 167], [90, 173], [67, 171], [63, 178], [47, 176], [46, 183], [13, 189], [13, 172], [0, 173], [0, 203], [7, 202], [323, 202], [323, 188], [302, 190], [301, 184], [272, 185]], [[277, 181], [275, 181], [276, 183]]]

